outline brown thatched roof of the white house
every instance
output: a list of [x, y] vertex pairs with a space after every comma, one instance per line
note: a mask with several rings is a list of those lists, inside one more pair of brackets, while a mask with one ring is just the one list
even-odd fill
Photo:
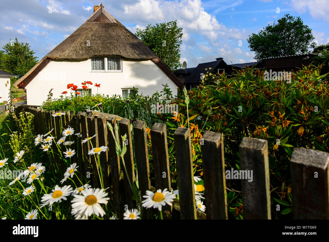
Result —
[[[89, 46], [88, 43], [90, 43]], [[152, 60], [154, 58], [160, 60], [148, 46], [106, 12], [103, 5], [101, 5], [83, 25], [43, 57], [14, 86], [24, 88], [33, 79], [33, 76], [41, 71], [52, 59], [88, 60], [91, 57], [106, 56], [118, 56], [131, 60]], [[45, 61], [47, 63], [43, 63]], [[164, 66], [172, 74], [168, 66], [165, 64]], [[174, 75], [170, 75], [169, 78], [173, 80], [172, 76]], [[174, 79], [178, 81], [176, 77]], [[176, 83], [176, 80], [173, 81]]]

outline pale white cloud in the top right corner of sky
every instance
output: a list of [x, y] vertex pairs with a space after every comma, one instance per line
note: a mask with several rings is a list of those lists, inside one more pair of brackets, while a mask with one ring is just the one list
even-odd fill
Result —
[[314, 19], [329, 21], [329, 4], [327, 0], [291, 0], [291, 6], [298, 12], [307, 10]]

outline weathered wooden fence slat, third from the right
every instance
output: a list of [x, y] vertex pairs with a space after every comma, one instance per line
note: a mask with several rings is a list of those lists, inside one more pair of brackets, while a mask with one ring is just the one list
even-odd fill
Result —
[[223, 134], [207, 131], [202, 139], [206, 216], [207, 219], [227, 219]]

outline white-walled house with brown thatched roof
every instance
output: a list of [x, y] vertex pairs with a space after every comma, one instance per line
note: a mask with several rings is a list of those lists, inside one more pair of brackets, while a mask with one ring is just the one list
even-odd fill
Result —
[[[58, 98], [63, 91], [71, 92], [67, 84], [73, 83], [81, 90], [81, 83], [87, 81], [93, 83], [88, 89], [91, 94], [98, 91], [123, 97], [127, 97], [133, 87], [139, 88], [140, 94], [152, 95], [163, 89], [162, 84], [168, 84], [171, 90], [182, 86], [169, 67], [105, 11], [102, 4], [95, 6], [94, 13], [83, 25], [14, 86], [26, 89], [28, 105], [39, 106], [51, 88], [54, 88], [53, 97]], [[98, 90], [96, 83], [101, 84]]]

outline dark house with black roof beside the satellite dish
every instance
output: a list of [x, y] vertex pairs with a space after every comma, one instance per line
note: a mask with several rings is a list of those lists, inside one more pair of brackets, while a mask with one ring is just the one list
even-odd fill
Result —
[[189, 77], [186, 78], [184, 84], [186, 85], [186, 89], [191, 89], [201, 83], [203, 76], [207, 73], [206, 68], [212, 68], [213, 72], [218, 73], [225, 73], [226, 75], [230, 75], [233, 72], [233, 68], [231, 65], [226, 64], [223, 58], [219, 57], [216, 58], [216, 61], [200, 63], [194, 70], [191, 72]]

